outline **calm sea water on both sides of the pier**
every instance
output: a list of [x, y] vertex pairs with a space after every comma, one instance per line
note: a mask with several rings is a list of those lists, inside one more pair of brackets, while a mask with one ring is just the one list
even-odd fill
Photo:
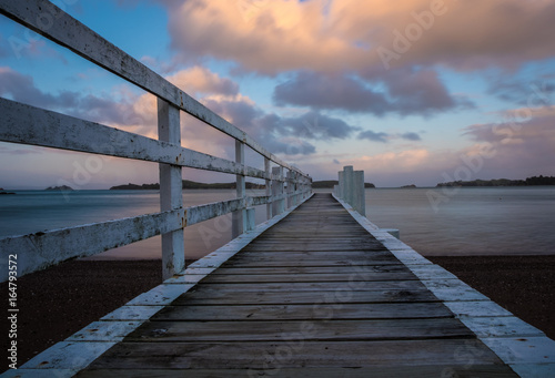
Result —
[[[260, 192], [262, 194], [262, 192]], [[233, 198], [235, 191], [185, 191], [185, 206]], [[20, 191], [0, 196], [0, 237], [159, 211], [158, 191]], [[366, 216], [423, 255], [555, 254], [555, 187], [366, 190]], [[256, 207], [256, 223], [265, 206]], [[231, 217], [185, 228], [185, 256], [199, 258], [231, 238]], [[160, 258], [160, 237], [93, 258]]]

